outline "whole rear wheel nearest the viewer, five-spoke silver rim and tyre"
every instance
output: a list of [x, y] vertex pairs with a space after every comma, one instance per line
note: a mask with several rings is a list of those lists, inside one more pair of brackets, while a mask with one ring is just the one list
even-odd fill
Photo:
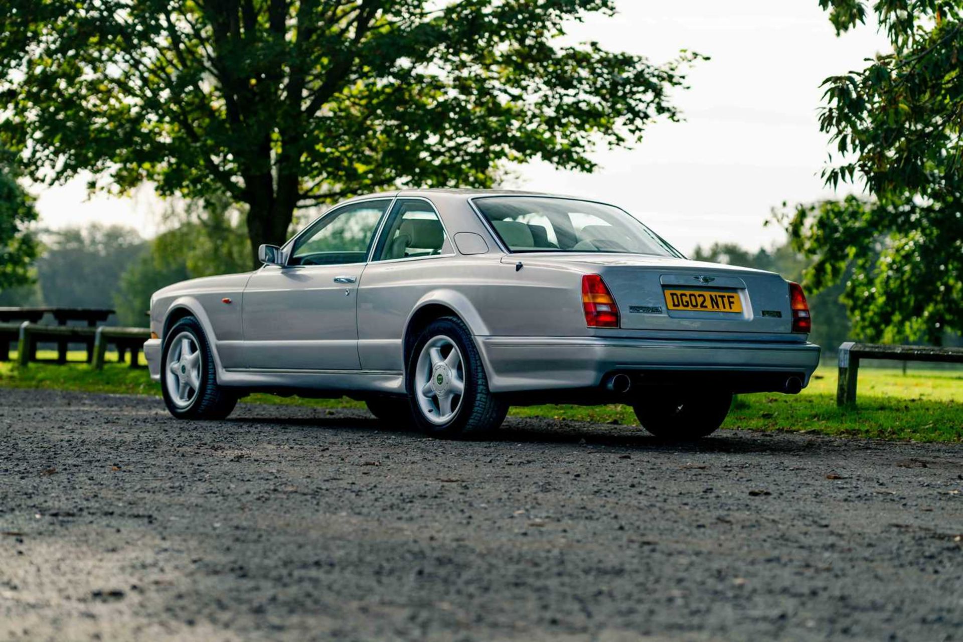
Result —
[[508, 405], [488, 390], [468, 327], [454, 317], [432, 321], [419, 335], [405, 383], [415, 424], [429, 435], [482, 436], [508, 413]]

